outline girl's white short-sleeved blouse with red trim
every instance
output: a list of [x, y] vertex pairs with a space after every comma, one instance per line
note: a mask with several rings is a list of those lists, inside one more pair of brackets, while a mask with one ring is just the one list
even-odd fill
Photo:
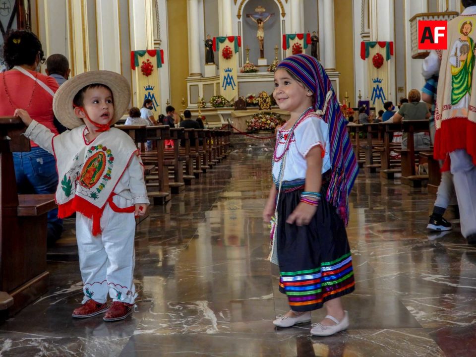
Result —
[[[277, 138], [278, 147], [276, 156], [280, 157], [286, 147], [286, 139], [291, 130], [278, 130]], [[327, 123], [317, 116], [309, 116], [301, 121], [294, 128], [294, 137], [289, 146], [286, 155], [286, 167], [283, 173], [283, 181], [292, 181], [295, 179], [305, 179], [306, 177], [306, 155], [313, 147], [319, 145], [324, 153], [322, 158], [322, 173], [331, 168], [331, 160], [329, 157], [329, 126]], [[273, 181], [279, 183], [279, 168], [281, 159], [278, 162], [273, 160]]]

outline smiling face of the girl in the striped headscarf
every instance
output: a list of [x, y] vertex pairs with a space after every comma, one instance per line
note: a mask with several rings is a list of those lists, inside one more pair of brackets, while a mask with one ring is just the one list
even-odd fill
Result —
[[274, 72], [273, 97], [279, 109], [290, 113], [301, 114], [312, 105], [312, 93], [281, 68]]

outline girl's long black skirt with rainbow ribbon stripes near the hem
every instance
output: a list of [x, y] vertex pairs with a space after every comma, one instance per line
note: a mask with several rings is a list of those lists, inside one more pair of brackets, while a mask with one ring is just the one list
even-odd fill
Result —
[[321, 308], [324, 302], [355, 289], [345, 224], [326, 201], [327, 188], [328, 183], [323, 182], [321, 201], [307, 226], [286, 223], [299, 204], [302, 188], [281, 192], [277, 203], [279, 290], [288, 296], [294, 311]]

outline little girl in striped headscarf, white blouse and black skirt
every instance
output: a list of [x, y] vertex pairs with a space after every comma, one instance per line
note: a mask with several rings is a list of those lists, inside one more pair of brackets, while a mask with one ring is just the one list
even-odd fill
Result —
[[274, 72], [273, 96], [291, 114], [278, 131], [273, 181], [263, 219], [276, 218], [271, 261], [279, 265], [279, 289], [291, 310], [279, 327], [327, 316], [311, 329], [329, 336], [349, 327], [342, 296], [355, 288], [345, 226], [357, 161], [331, 82], [313, 57], [283, 60]]

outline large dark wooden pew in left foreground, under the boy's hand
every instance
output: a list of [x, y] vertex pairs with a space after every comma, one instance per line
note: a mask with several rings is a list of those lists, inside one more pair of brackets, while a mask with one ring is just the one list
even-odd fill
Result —
[[[0, 309], [13, 315], [48, 290], [47, 213], [54, 194], [18, 195], [12, 152], [30, 151], [19, 118], [0, 117]], [[11, 140], [8, 140], [8, 137]]]

